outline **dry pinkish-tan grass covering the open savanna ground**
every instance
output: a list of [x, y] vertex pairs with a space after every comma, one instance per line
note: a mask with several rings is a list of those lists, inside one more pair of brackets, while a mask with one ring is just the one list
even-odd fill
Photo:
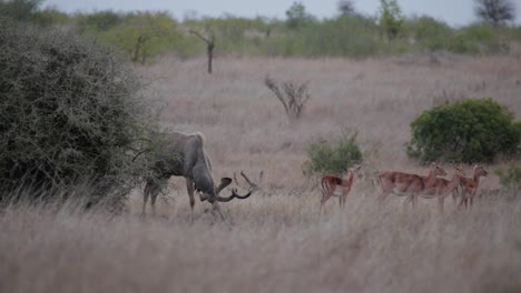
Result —
[[[223, 57], [209, 75], [204, 59], [165, 57], [138, 68], [165, 127], [205, 134], [215, 178], [245, 170], [263, 192], [222, 204], [228, 224], [212, 224], [200, 202], [190, 223], [180, 179], [170, 181], [159, 215], [146, 220], [141, 191], [116, 218], [72, 203], [58, 213], [6, 209], [0, 292], [521, 291], [521, 200], [511, 192], [468, 211], [449, 200], [443, 214], [433, 200], [420, 200], [416, 210], [394, 195], [376, 201], [376, 170], [426, 173], [403, 148], [421, 111], [445, 99], [491, 97], [521, 119], [520, 53], [433, 61]], [[266, 74], [309, 82], [301, 120], [288, 121]], [[316, 179], [302, 172], [306, 146], [344, 131], [358, 132], [364, 176], [345, 210], [331, 200], [320, 219]], [[499, 189], [495, 165], [486, 168], [480, 190]]]

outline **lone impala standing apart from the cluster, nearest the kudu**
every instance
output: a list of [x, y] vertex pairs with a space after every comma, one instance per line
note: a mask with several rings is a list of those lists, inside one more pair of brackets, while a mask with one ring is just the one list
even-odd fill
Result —
[[335, 175], [325, 175], [321, 179], [322, 186], [322, 199], [321, 199], [321, 212], [324, 203], [331, 199], [331, 196], [337, 196], [338, 203], [343, 208], [345, 206], [345, 198], [350, 193], [351, 188], [353, 186], [353, 180], [355, 172], [360, 170], [360, 165], [355, 168], [350, 168], [347, 170], [347, 175], [345, 178], [340, 178]]

